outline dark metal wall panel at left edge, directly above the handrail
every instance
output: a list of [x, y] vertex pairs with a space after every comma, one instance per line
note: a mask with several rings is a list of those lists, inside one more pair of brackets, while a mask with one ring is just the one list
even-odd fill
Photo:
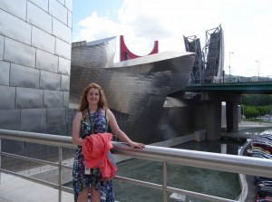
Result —
[[20, 129], [20, 110], [0, 110], [0, 129], [19, 130]]

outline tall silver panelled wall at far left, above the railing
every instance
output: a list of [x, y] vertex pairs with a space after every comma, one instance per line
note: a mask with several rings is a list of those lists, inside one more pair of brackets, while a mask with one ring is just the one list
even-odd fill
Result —
[[0, 0], [0, 128], [67, 135], [72, 9]]

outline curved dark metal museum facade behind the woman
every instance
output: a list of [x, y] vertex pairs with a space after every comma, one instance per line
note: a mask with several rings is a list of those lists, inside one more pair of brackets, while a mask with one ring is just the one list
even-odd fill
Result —
[[[92, 57], [99, 58], [94, 53], [98, 53], [95, 47]], [[131, 139], [153, 143], [189, 134], [195, 127], [189, 105], [164, 105], [170, 94], [182, 90], [189, 82], [193, 63], [194, 53], [178, 52], [155, 53], [113, 63], [110, 68], [77, 63], [71, 69], [70, 102], [78, 104], [83, 89], [90, 82], [97, 82], [105, 91], [121, 129]]]

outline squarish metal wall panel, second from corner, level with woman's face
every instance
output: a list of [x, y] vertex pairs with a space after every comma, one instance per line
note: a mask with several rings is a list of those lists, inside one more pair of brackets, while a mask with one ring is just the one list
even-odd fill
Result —
[[44, 91], [44, 107], [45, 108], [61, 108], [63, 107], [62, 91]]

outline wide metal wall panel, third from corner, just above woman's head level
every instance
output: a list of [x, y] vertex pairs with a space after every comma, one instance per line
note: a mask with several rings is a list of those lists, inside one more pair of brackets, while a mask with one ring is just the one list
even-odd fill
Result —
[[12, 63], [10, 85], [38, 89], [40, 87], [40, 70]]

